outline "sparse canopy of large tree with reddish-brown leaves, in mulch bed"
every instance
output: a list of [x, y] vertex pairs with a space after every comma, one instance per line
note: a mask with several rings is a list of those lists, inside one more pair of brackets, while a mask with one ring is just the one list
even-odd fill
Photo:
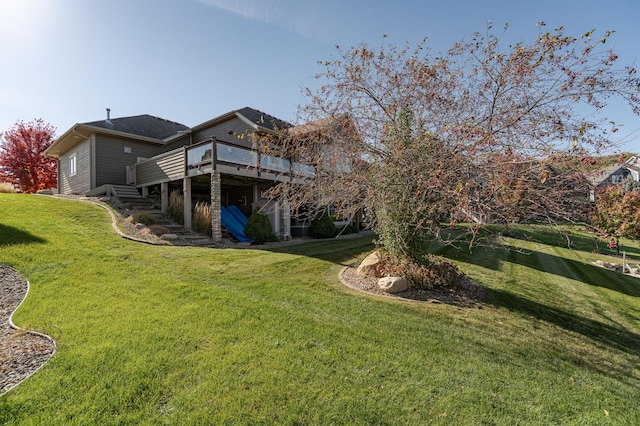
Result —
[[611, 97], [640, 113], [640, 80], [607, 48], [612, 32], [541, 28], [530, 44], [489, 28], [438, 55], [426, 39], [338, 47], [307, 90], [307, 124], [279, 145], [316, 165], [315, 179], [273, 195], [346, 217], [364, 207], [379, 242], [413, 258], [459, 223], [477, 236], [488, 222], [579, 218], [581, 172], [617, 131], [596, 117]]

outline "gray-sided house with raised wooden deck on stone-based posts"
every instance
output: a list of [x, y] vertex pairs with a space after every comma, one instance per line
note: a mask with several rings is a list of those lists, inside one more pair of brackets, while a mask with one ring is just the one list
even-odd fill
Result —
[[171, 191], [184, 196], [185, 227], [191, 228], [196, 201], [213, 206], [213, 238], [221, 239], [223, 207], [246, 216], [255, 207], [270, 215], [276, 235], [291, 235], [286, 199], [263, 196], [275, 182], [304, 184], [315, 169], [290, 158], [263, 153], [262, 135], [276, 135], [288, 123], [245, 107], [194, 127], [150, 115], [75, 124], [45, 155], [58, 160], [61, 194], [122, 195], [159, 193], [163, 212]]

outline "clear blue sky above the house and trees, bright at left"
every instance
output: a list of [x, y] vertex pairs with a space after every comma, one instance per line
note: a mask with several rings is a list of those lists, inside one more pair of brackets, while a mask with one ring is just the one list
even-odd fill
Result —
[[[336, 44], [428, 36], [439, 52], [488, 21], [526, 41], [539, 21], [616, 30], [620, 62], [640, 62], [639, 0], [0, 0], [0, 131], [42, 118], [60, 135], [107, 107], [188, 126], [244, 106], [294, 121]], [[640, 117], [609, 115], [640, 151]]]

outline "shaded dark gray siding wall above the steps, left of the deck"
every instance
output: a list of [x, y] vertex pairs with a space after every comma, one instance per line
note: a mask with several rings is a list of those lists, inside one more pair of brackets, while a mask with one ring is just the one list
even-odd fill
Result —
[[[125, 185], [127, 166], [136, 164], [139, 157], [151, 158], [162, 149], [161, 145], [114, 136], [96, 135], [95, 137], [96, 187], [106, 184]], [[131, 152], [125, 152], [125, 147], [131, 148]]]

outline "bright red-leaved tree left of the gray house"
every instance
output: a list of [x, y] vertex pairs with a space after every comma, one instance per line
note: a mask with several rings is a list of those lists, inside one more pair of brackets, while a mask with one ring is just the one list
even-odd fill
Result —
[[55, 188], [56, 160], [42, 155], [55, 138], [55, 127], [41, 119], [18, 121], [0, 133], [0, 181], [24, 192]]

